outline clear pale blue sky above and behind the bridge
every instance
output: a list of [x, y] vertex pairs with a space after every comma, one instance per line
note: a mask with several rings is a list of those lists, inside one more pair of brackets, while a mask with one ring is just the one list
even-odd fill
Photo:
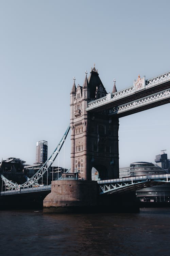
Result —
[[[70, 118], [70, 91], [96, 69], [107, 93], [170, 71], [170, 1], [0, 0], [0, 159], [52, 153]], [[119, 119], [119, 165], [170, 158], [170, 104]], [[65, 167], [70, 166], [70, 137]], [[61, 157], [62, 159], [62, 157]], [[63, 166], [63, 163], [60, 162]]]

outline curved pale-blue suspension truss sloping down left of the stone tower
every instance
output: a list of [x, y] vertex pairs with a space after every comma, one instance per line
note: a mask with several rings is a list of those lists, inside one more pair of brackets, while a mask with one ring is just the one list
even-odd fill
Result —
[[43, 175], [47, 172], [47, 170], [50, 168], [50, 166], [54, 162], [55, 158], [57, 157], [58, 153], [60, 152], [60, 150], [65, 142], [65, 139], [68, 135], [69, 130], [70, 130], [70, 125], [67, 127], [62, 139], [56, 146], [56, 148], [53, 151], [53, 153], [51, 154], [51, 156], [47, 159], [47, 161], [44, 163], [44, 165], [25, 183], [23, 183], [23, 184], [13, 183], [12, 181], [9, 181], [3, 175], [1, 175], [1, 178], [2, 178], [3, 182], [5, 183], [5, 185], [7, 186], [7, 188], [8, 189], [21, 189], [21, 188], [27, 188], [27, 187], [31, 187], [33, 185], [37, 185], [38, 180], [41, 179], [43, 177]]

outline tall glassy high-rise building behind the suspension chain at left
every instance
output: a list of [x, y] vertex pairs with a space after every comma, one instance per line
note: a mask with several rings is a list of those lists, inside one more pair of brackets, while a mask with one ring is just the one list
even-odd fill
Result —
[[47, 161], [48, 142], [41, 140], [36, 145], [36, 163], [45, 163]]

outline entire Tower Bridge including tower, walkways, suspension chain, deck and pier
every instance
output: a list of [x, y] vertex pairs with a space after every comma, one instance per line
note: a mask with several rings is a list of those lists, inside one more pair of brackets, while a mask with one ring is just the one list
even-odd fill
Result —
[[[86, 72], [83, 86], [78, 84], [76, 87], [75, 78], [73, 79], [70, 98], [70, 125], [51, 156], [24, 184], [13, 183], [1, 176], [6, 186], [10, 188], [8, 191], [2, 191], [1, 196], [48, 191], [44, 201], [45, 207], [58, 207], [58, 205], [63, 207], [63, 205], [68, 206], [69, 204], [78, 205], [75, 201], [83, 200], [88, 204], [90, 195], [94, 194], [124, 195], [125, 192], [135, 191], [138, 188], [170, 182], [170, 174], [119, 179], [118, 149], [120, 117], [170, 102], [170, 72], [149, 80], [146, 80], [145, 76], [142, 78], [138, 76], [133, 86], [121, 91], [117, 91], [114, 81], [112, 93], [107, 93], [100, 80], [98, 70], [94, 66], [88, 78]], [[52, 185], [40, 187], [38, 181], [42, 179], [60, 152], [69, 129], [71, 130], [70, 173], [76, 173], [78, 181], [74, 183], [75, 178], [72, 178], [72, 181], [63, 179], [53, 181]], [[99, 173], [100, 181], [98, 182], [91, 182], [93, 167]], [[86, 186], [84, 186], [85, 184]], [[81, 190], [83, 194], [79, 193]], [[99, 190], [100, 192], [97, 192]], [[50, 191], [52, 192], [49, 194]], [[84, 195], [87, 196], [84, 198]], [[70, 199], [72, 203], [70, 203], [69, 197], [72, 198]], [[96, 203], [97, 200], [96, 196], [90, 203], [94, 204], [94, 201]], [[87, 204], [83, 205], [87, 206]]]

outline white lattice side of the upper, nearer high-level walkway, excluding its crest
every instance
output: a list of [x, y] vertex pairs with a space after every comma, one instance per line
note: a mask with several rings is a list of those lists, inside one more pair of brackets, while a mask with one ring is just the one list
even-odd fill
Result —
[[[166, 83], [170, 81], [170, 72], [156, 76], [152, 79], [145, 81], [145, 89], [149, 89], [151, 87]], [[109, 93], [105, 97], [102, 97], [100, 99], [90, 101], [87, 105], [87, 111], [98, 108], [102, 105], [105, 105], [107, 103], [113, 102], [115, 100], [122, 99], [124, 97], [133, 95], [138, 91], [135, 91], [134, 86], [131, 86], [129, 88], [123, 89], [121, 91], [117, 91], [116, 93]]]

